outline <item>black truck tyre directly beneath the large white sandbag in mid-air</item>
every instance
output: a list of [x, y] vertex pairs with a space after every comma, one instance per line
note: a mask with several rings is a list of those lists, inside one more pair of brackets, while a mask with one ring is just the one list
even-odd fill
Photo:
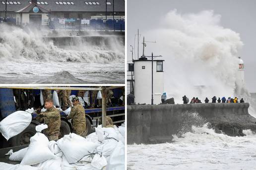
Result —
[[30, 143], [30, 137], [36, 134], [36, 125], [29, 124], [29, 126], [21, 133], [11, 138], [12, 146], [26, 145]]

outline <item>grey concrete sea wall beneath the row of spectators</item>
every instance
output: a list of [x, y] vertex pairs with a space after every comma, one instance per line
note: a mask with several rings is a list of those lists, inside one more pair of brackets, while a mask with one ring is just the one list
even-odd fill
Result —
[[256, 130], [256, 118], [248, 113], [249, 103], [200, 103], [133, 105], [127, 107], [127, 141], [161, 143], [192, 125], [237, 123]]

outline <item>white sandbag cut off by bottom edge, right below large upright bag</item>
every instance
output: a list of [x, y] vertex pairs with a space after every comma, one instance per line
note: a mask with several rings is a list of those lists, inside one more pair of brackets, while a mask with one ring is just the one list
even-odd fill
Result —
[[62, 158], [57, 157], [55, 159], [50, 159], [40, 164], [34, 165], [34, 167], [40, 168], [40, 170], [62, 170], [61, 164]]

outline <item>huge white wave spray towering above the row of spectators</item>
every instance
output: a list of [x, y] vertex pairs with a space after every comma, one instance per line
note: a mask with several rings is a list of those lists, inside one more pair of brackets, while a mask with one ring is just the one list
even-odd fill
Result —
[[173, 10], [159, 29], [147, 34], [151, 38], [157, 32], [156, 52], [165, 59], [168, 94], [179, 99], [184, 94], [190, 99], [194, 95], [204, 99], [234, 94], [243, 42], [238, 33], [223, 28], [220, 20], [221, 16], [212, 10], [189, 14]]

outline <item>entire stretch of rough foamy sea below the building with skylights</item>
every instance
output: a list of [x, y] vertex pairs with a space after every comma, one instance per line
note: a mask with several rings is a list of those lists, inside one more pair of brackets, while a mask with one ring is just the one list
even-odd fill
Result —
[[125, 82], [125, 46], [121, 36], [51, 38], [42, 35], [44, 32], [3, 25], [0, 29], [1, 84]]

